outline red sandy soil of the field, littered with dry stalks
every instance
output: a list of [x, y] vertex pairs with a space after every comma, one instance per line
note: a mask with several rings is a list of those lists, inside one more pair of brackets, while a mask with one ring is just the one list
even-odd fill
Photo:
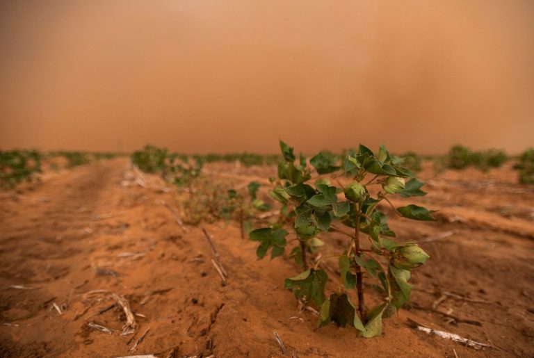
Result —
[[[206, 171], [245, 184], [275, 174], [275, 168], [232, 164]], [[432, 259], [414, 270], [414, 307], [385, 320], [375, 339], [334, 325], [318, 329], [316, 316], [299, 312], [283, 288], [284, 278], [299, 273], [295, 264], [258, 261], [257, 245], [242, 240], [235, 223], [216, 222], [203, 226], [227, 270], [223, 286], [200, 227], [184, 232], [161, 204], [176, 204], [175, 194], [161, 190], [157, 178], [148, 177], [143, 188], [135, 177], [120, 158], [48, 173], [42, 183], [0, 193], [1, 357], [282, 357], [273, 332], [286, 357], [534, 356], [534, 188], [517, 184], [510, 164], [488, 174], [435, 176], [427, 163], [420, 177], [428, 195], [410, 202], [440, 209], [438, 221], [389, 211], [398, 238], [420, 241]], [[325, 252], [344, 245], [344, 236], [329, 237]], [[328, 265], [335, 267], [335, 259]], [[369, 307], [380, 300], [371, 284]], [[115, 303], [114, 293], [138, 315], [133, 334], [120, 335], [126, 321], [120, 308], [99, 313]], [[460, 320], [428, 310], [437, 303], [438, 311]], [[494, 348], [474, 350], [417, 332], [407, 318]], [[113, 333], [92, 329], [91, 322]]]

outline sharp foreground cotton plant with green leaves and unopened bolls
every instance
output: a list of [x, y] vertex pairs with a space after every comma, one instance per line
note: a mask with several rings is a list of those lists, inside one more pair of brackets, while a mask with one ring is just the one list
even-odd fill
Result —
[[[275, 225], [250, 232], [252, 241], [259, 242], [257, 257], [284, 254], [289, 232], [284, 225], [291, 224], [298, 245], [293, 247], [291, 257], [302, 267], [303, 272], [285, 280], [284, 287], [291, 289], [298, 300], [314, 302], [320, 308], [318, 325], [337, 323], [341, 327], [352, 326], [364, 337], [382, 334], [382, 318], [390, 316], [410, 301], [412, 285], [411, 270], [425, 263], [429, 256], [419, 245], [409, 241], [397, 243], [391, 238], [395, 233], [387, 225], [387, 215], [378, 209], [385, 202], [394, 211], [412, 220], [435, 220], [432, 211], [410, 204], [394, 207], [389, 197], [400, 195], [412, 197], [425, 195], [423, 184], [412, 177], [410, 170], [403, 168], [403, 158], [391, 156], [384, 146], [374, 154], [371, 149], [359, 145], [344, 158], [321, 152], [309, 163], [317, 174], [331, 174], [337, 185], [324, 179], [312, 184], [312, 169], [302, 154], [299, 160], [293, 148], [280, 141], [284, 161], [278, 166], [278, 179], [271, 196], [282, 203], [280, 220]], [[343, 186], [339, 177], [350, 175], [352, 181]], [[371, 177], [369, 179], [369, 177]], [[376, 195], [371, 195], [370, 186], [379, 186]], [[309, 267], [308, 254], [321, 250], [323, 241], [317, 236], [332, 231], [346, 230], [333, 226], [341, 223], [350, 228], [350, 241], [342, 252], [327, 257], [318, 256]], [[369, 241], [369, 248], [362, 247], [362, 240]], [[337, 257], [339, 282], [337, 292], [325, 295], [328, 275], [319, 268], [325, 258]], [[366, 311], [364, 301], [364, 277], [380, 282], [385, 300], [377, 307]], [[357, 293], [357, 305], [347, 294]]]

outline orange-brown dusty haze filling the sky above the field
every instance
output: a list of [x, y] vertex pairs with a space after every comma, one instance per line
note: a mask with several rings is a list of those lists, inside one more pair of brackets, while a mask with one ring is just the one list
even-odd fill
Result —
[[1, 1], [0, 147], [534, 145], [534, 1]]

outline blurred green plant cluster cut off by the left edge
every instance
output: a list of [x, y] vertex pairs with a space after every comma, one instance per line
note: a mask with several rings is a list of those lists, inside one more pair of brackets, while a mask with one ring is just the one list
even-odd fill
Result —
[[14, 188], [23, 181], [37, 180], [42, 157], [37, 150], [0, 151], [0, 187]]

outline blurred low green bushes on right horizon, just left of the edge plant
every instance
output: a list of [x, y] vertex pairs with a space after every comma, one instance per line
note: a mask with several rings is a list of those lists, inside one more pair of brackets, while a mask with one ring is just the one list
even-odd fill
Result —
[[491, 168], [501, 167], [508, 160], [508, 156], [498, 149], [471, 151], [462, 145], [455, 145], [443, 160], [446, 168], [462, 170], [474, 166], [478, 170], [486, 172]]

